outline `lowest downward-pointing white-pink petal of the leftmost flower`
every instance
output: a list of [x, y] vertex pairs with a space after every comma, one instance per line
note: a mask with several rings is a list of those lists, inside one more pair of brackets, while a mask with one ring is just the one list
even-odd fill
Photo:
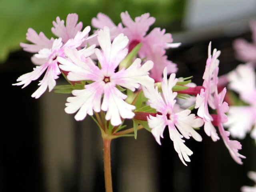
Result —
[[32, 94], [32, 97], [39, 98], [46, 91], [47, 87], [50, 92], [56, 86], [55, 80], [59, 78], [58, 75], [60, 73], [57, 62], [51, 63], [46, 70], [44, 78], [38, 84], [40, 87]]

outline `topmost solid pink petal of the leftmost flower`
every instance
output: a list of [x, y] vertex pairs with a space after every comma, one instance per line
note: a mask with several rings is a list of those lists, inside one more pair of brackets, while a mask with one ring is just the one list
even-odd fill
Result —
[[58, 37], [61, 37], [63, 42], [66, 43], [69, 39], [74, 38], [78, 31], [82, 30], [82, 22], [78, 22], [78, 15], [68, 14], [66, 18], [66, 26], [64, 20], [60, 20], [60, 17], [56, 18], [56, 22], [53, 21], [52, 33]]

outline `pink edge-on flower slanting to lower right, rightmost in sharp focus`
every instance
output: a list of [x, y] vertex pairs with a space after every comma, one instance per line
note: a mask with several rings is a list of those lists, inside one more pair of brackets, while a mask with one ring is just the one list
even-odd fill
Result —
[[223, 123], [226, 123], [228, 121], [228, 117], [225, 114], [226, 112], [228, 112], [228, 104], [226, 102], [223, 102], [225, 95], [226, 95], [226, 88], [224, 88], [222, 92], [220, 92], [220, 94], [215, 93], [214, 95], [215, 107], [216, 107], [217, 116], [218, 116], [218, 120], [217, 120], [218, 130], [232, 158], [238, 164], [243, 164], [241, 158], [245, 158], [245, 156], [238, 153], [238, 150], [242, 149], [242, 145], [240, 144], [240, 142], [236, 140], [230, 140], [229, 139], [230, 132], [225, 131], [223, 127]]

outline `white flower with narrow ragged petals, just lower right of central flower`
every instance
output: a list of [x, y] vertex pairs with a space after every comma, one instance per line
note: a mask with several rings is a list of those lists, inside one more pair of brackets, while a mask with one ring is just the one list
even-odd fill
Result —
[[[202, 137], [193, 129], [203, 125], [201, 118], [196, 118], [190, 114], [190, 110], [174, 112], [177, 92], [172, 92], [172, 87], [178, 81], [175, 74], [171, 74], [167, 81], [167, 69], [164, 69], [164, 78], [162, 80], [162, 95], [158, 92], [158, 87], [148, 86], [143, 88], [143, 92], [150, 106], [158, 112], [156, 116], [148, 117], [148, 125], [152, 128], [152, 134], [156, 141], [161, 144], [160, 137], [163, 138], [164, 128], [168, 126], [170, 138], [173, 141], [174, 149], [178, 153], [180, 160], [184, 165], [190, 162], [188, 156], [193, 152], [184, 144], [183, 137], [189, 139], [192, 136], [197, 141], [202, 141]], [[185, 161], [184, 161], [185, 160]]]

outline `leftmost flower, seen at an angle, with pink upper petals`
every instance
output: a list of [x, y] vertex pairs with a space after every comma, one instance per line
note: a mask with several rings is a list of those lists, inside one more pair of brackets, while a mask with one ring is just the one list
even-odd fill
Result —
[[61, 73], [56, 58], [58, 56], [65, 57], [65, 48], [78, 48], [81, 46], [90, 32], [90, 26], [87, 26], [82, 32], [78, 31], [82, 28], [82, 23], [76, 24], [78, 20], [76, 14], [69, 14], [67, 16], [66, 27], [64, 26], [64, 21], [60, 21], [59, 17], [56, 20], [57, 23], [53, 22], [54, 28], [52, 28], [52, 32], [60, 38], [51, 38], [49, 40], [44, 33], [40, 32], [37, 34], [33, 29], [29, 28], [26, 34], [27, 40], [34, 44], [20, 44], [28, 52], [38, 52], [32, 57], [32, 62], [38, 66], [32, 72], [20, 76], [17, 79], [18, 83], [13, 85], [23, 85], [22, 88], [24, 88], [33, 80], [40, 78], [45, 72], [44, 78], [38, 84], [39, 88], [32, 94], [34, 98], [39, 98], [46, 91], [47, 87], [50, 92], [56, 85], [55, 80]]

